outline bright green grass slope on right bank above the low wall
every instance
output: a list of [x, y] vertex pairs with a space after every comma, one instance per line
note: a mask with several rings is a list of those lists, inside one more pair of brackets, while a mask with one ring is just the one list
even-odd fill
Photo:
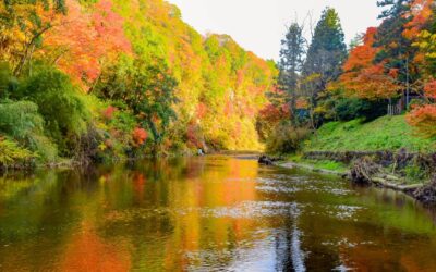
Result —
[[384, 116], [370, 123], [360, 120], [331, 122], [320, 127], [304, 145], [304, 151], [378, 151], [431, 152], [436, 141], [417, 136], [403, 115]]

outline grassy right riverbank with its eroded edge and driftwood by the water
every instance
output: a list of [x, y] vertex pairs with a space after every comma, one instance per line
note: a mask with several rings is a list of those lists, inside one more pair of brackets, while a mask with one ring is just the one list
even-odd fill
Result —
[[420, 138], [403, 115], [384, 116], [372, 122], [327, 123], [299, 151], [276, 154], [280, 160], [274, 164], [403, 191], [434, 205], [434, 150], [435, 141]]

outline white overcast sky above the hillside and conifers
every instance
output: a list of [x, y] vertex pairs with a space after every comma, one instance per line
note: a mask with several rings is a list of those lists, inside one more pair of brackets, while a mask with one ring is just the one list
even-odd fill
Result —
[[318, 20], [325, 7], [335, 8], [346, 41], [377, 25], [376, 0], [169, 0], [182, 10], [183, 20], [199, 33], [229, 34], [245, 49], [266, 59], [278, 59], [286, 25], [303, 22], [311, 12]]

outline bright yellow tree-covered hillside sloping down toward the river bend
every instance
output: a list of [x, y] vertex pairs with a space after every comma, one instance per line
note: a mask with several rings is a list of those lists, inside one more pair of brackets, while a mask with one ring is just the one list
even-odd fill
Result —
[[178, 131], [189, 145], [258, 149], [256, 115], [274, 84], [275, 64], [242, 49], [231, 37], [203, 37], [161, 0], [116, 0], [136, 54], [166, 61], [179, 82]]

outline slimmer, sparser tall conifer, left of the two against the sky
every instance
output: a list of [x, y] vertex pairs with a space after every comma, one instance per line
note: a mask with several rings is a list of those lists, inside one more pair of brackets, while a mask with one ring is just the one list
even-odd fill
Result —
[[296, 115], [294, 112], [296, 92], [303, 67], [305, 45], [303, 27], [298, 23], [291, 24], [284, 39], [281, 40], [278, 85], [287, 95], [291, 118], [294, 120]]

